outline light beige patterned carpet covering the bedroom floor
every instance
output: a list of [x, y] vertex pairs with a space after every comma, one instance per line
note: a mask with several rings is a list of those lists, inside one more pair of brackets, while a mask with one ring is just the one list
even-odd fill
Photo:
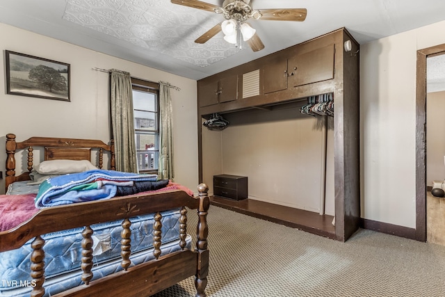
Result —
[[[444, 246], [369, 230], [343, 243], [213, 205], [208, 222], [207, 296], [445, 296]], [[193, 281], [156, 296], [195, 296]]]

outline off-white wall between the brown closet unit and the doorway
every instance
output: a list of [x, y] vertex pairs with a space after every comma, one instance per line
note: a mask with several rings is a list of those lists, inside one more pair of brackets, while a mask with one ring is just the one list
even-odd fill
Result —
[[360, 47], [362, 218], [416, 226], [416, 51], [445, 44], [445, 22]]

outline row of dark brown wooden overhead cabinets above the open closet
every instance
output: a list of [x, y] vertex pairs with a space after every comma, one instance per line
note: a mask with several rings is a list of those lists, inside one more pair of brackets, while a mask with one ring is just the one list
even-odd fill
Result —
[[[343, 44], [337, 31], [197, 81], [200, 114], [268, 108], [333, 93], [343, 81]], [[358, 45], [358, 44], [357, 44]], [[339, 53], [336, 52], [339, 51]], [[257, 77], [245, 79], [257, 72]], [[355, 72], [353, 72], [355, 73]], [[251, 88], [257, 88], [252, 92]]]

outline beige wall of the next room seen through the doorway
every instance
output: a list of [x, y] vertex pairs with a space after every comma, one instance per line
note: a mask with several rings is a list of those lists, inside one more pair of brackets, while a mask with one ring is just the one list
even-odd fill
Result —
[[[443, 70], [445, 72], [445, 69]], [[428, 78], [427, 78], [428, 79]], [[445, 180], [445, 91], [426, 95], [426, 184]]]

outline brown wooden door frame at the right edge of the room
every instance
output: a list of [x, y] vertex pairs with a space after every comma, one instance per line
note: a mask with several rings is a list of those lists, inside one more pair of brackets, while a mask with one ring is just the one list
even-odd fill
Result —
[[426, 58], [445, 44], [419, 49], [416, 67], [416, 240], [426, 241]]

